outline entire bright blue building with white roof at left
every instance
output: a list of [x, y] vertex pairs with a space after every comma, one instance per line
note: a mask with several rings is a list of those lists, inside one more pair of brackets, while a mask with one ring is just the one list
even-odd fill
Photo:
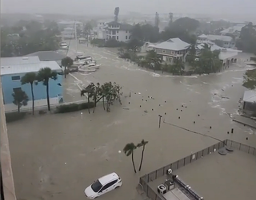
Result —
[[[1, 79], [2, 93], [6, 112], [17, 111], [17, 106], [13, 104], [15, 90], [22, 89], [29, 97], [27, 106], [21, 109], [31, 108], [32, 96], [30, 84], [21, 83], [22, 76], [26, 73], [38, 71], [42, 68], [50, 68], [57, 73], [62, 73], [62, 69], [56, 61], [40, 61], [38, 57], [3, 57], [1, 58]], [[49, 80], [50, 104], [58, 104], [62, 98], [62, 75], [58, 74], [57, 80]], [[34, 106], [43, 107], [47, 105], [46, 86], [42, 83], [34, 84]]]

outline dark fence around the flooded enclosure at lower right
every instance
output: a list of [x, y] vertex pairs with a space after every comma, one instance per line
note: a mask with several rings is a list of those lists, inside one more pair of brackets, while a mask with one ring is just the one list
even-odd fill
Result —
[[161, 200], [162, 198], [160, 197], [160, 195], [154, 190], [152, 190], [152, 188], [148, 185], [148, 182], [154, 181], [155, 179], [162, 177], [163, 175], [166, 175], [166, 171], [168, 171], [168, 169], [171, 169], [172, 171], [176, 171], [183, 166], [193, 163], [195, 160], [202, 159], [204, 156], [209, 155], [215, 151], [218, 151], [224, 146], [238, 149], [239, 151], [244, 151], [251, 155], [256, 155], [255, 147], [250, 147], [246, 144], [237, 143], [232, 140], [226, 139], [222, 142], [215, 143], [210, 147], [206, 147], [201, 151], [188, 155], [183, 159], [179, 159], [174, 163], [170, 163], [165, 167], [161, 167], [156, 171], [152, 171], [149, 174], [142, 176], [141, 178], [139, 178], [139, 183], [142, 186], [142, 190], [144, 190], [146, 195], [152, 200]]

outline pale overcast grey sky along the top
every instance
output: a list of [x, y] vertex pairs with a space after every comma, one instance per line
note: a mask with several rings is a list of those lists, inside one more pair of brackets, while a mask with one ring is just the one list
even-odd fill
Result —
[[1, 0], [4, 13], [120, 14], [238, 14], [255, 15], [256, 0]]

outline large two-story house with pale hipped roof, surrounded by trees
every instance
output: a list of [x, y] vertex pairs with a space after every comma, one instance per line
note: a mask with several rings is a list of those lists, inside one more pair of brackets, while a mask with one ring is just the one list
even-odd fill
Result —
[[176, 61], [185, 61], [186, 53], [190, 44], [182, 41], [180, 38], [171, 38], [157, 45], [153, 49], [162, 57], [162, 61], [168, 64], [174, 64]]

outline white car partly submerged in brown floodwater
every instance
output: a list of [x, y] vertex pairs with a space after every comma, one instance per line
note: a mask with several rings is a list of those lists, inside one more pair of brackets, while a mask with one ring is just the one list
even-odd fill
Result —
[[87, 198], [94, 199], [120, 186], [122, 186], [122, 179], [116, 173], [111, 173], [94, 181], [93, 184], [86, 188], [85, 194]]

